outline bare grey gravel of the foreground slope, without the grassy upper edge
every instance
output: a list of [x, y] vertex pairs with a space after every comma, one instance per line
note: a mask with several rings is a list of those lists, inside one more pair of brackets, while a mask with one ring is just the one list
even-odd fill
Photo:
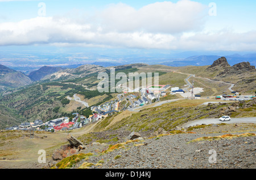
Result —
[[[142, 141], [128, 143], [125, 148], [115, 149], [112, 152], [94, 153], [94, 156], [90, 156], [86, 161], [94, 164], [90, 167], [92, 169], [255, 169], [255, 136], [188, 143], [196, 138], [224, 134], [228, 133], [175, 134], [152, 139], [144, 138]], [[115, 159], [117, 155], [120, 157]], [[100, 160], [104, 163], [96, 166]], [[79, 168], [83, 162], [85, 161], [77, 163], [75, 168]]]

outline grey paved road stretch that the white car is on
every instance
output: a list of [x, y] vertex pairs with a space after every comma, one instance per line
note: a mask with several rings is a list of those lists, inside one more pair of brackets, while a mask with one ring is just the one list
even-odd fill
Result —
[[218, 118], [216, 119], [200, 119], [200, 120], [195, 120], [191, 122], [187, 122], [183, 127], [189, 127], [189, 126], [195, 126], [195, 125], [209, 125], [209, 124], [218, 124], [218, 123], [256, 123], [256, 117], [251, 117], [251, 118], [232, 118], [231, 121], [219, 121]]

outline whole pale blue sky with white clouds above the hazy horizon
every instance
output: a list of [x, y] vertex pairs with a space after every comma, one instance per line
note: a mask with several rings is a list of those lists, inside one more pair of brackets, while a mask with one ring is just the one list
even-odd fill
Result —
[[0, 0], [0, 49], [255, 52], [255, 7], [253, 0]]

